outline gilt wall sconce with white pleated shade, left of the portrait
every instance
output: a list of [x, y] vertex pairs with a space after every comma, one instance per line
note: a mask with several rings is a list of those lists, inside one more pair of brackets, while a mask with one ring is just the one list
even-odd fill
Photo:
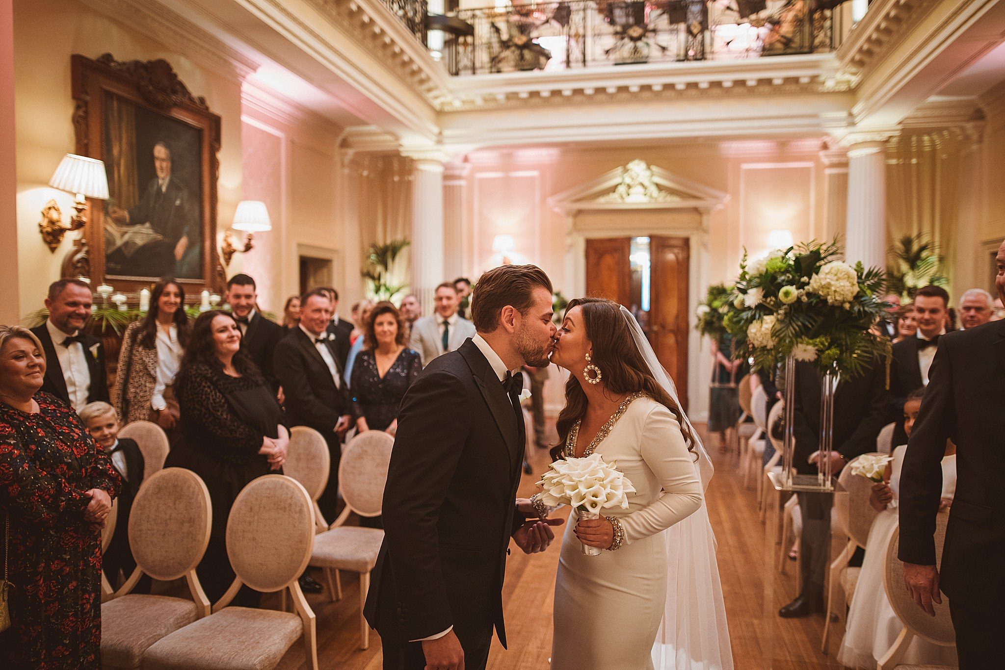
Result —
[[105, 163], [97, 159], [66, 154], [49, 180], [49, 186], [60, 191], [72, 193], [76, 200], [73, 203], [75, 214], [69, 224], [62, 222], [62, 212], [56, 201], [49, 200], [42, 208], [42, 220], [38, 222], [38, 231], [42, 235], [49, 251], [55, 251], [62, 242], [63, 235], [72, 230], [80, 230], [87, 223], [83, 211], [87, 208], [86, 198], [98, 200], [109, 199], [109, 179], [105, 174]]

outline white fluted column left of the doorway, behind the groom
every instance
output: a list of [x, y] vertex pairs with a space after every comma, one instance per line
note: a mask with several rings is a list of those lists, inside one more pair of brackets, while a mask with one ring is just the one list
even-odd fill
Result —
[[445, 280], [443, 267], [443, 163], [439, 154], [410, 155], [412, 182], [412, 292], [422, 313], [433, 313], [436, 284]]

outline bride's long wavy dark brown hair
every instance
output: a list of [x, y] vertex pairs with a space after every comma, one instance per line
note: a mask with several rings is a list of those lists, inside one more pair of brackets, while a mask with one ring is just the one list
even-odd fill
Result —
[[[687, 450], [694, 445], [694, 436], [687, 428], [683, 412], [670, 395], [656, 382], [642, 353], [635, 346], [628, 321], [621, 313], [621, 305], [613, 300], [600, 297], [579, 297], [569, 302], [566, 314], [573, 307], [583, 312], [586, 337], [593, 344], [591, 359], [593, 365], [603, 373], [602, 384], [615, 395], [642, 392], [660, 405], [666, 407], [680, 424], [680, 432], [687, 442]], [[577, 374], [572, 374], [566, 383], [566, 405], [559, 414], [556, 428], [559, 443], [551, 450], [553, 460], [562, 458], [569, 431], [577, 421], [586, 416], [587, 399]]]

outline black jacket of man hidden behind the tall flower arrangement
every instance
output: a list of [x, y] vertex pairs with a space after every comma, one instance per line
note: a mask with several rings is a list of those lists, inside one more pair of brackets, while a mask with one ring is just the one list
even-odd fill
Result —
[[[785, 381], [790, 384], [790, 380]], [[806, 462], [820, 444], [820, 373], [809, 363], [796, 365], [796, 402], [793, 433], [796, 450], [793, 466], [802, 474], [816, 474]], [[834, 451], [846, 459], [876, 450], [876, 437], [888, 412], [886, 367], [873, 361], [861, 375], [842, 376], [834, 392]]]

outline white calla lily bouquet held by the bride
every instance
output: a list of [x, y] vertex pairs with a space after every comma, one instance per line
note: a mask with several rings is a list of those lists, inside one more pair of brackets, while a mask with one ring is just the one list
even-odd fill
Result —
[[[635, 487], [615, 465], [600, 454], [557, 460], [538, 482], [541, 501], [550, 507], [571, 505], [580, 518], [599, 518], [601, 509], [611, 507], [627, 509], [628, 494]], [[600, 549], [584, 544], [583, 552], [599, 555]]]

